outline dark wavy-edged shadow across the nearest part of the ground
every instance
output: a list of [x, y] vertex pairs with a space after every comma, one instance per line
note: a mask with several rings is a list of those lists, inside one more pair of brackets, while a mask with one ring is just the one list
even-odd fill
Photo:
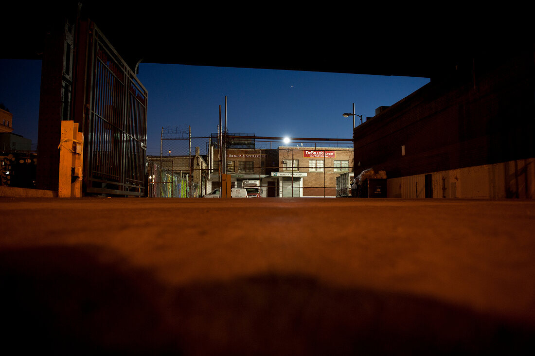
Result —
[[[535, 330], [418, 296], [257, 275], [170, 287], [93, 246], [0, 251], [18, 354], [532, 354]], [[6, 349], [7, 348], [7, 349]]]

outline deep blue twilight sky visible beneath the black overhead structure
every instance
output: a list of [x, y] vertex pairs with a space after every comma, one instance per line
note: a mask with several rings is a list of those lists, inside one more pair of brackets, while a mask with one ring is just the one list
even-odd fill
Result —
[[[13, 132], [37, 142], [39, 60], [0, 60], [0, 102], [13, 113]], [[427, 78], [144, 64], [137, 76], [149, 92], [147, 153], [159, 154], [164, 127], [216, 132], [228, 97], [231, 133], [351, 138], [351, 117], [375, 115], [429, 82]], [[356, 120], [358, 124], [358, 118]]]

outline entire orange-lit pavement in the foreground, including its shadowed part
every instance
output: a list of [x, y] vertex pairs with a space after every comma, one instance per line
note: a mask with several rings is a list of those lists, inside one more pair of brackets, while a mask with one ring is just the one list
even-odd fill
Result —
[[3, 354], [534, 351], [534, 201], [0, 198], [0, 214]]

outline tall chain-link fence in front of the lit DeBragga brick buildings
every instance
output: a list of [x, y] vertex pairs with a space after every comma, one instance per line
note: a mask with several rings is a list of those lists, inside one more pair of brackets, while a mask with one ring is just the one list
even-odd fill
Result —
[[284, 143], [276, 138], [228, 134], [226, 141], [225, 150], [217, 134], [190, 137], [189, 130], [163, 129], [161, 155], [147, 157], [148, 196], [219, 196], [220, 173], [231, 175], [232, 188], [246, 188], [248, 196], [351, 195], [356, 164], [348, 140], [301, 139]]

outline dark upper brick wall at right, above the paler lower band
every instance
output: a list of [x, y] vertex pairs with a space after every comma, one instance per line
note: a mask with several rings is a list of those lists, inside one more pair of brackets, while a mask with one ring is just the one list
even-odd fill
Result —
[[534, 157], [533, 51], [485, 60], [432, 79], [357, 126], [355, 171], [395, 178]]

